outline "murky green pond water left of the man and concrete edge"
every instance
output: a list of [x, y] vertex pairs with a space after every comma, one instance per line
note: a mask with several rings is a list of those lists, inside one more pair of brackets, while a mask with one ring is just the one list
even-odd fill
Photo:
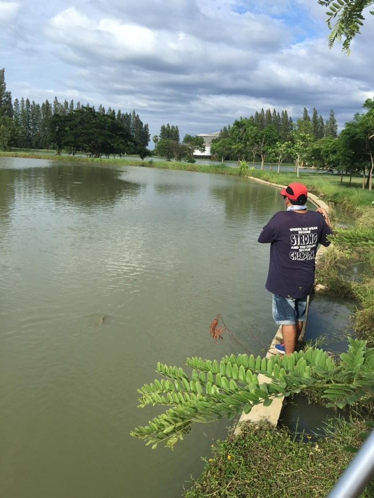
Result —
[[274, 336], [258, 235], [284, 209], [244, 178], [0, 158], [0, 487], [11, 498], [177, 497], [227, 421], [174, 452], [129, 436], [157, 361]]

